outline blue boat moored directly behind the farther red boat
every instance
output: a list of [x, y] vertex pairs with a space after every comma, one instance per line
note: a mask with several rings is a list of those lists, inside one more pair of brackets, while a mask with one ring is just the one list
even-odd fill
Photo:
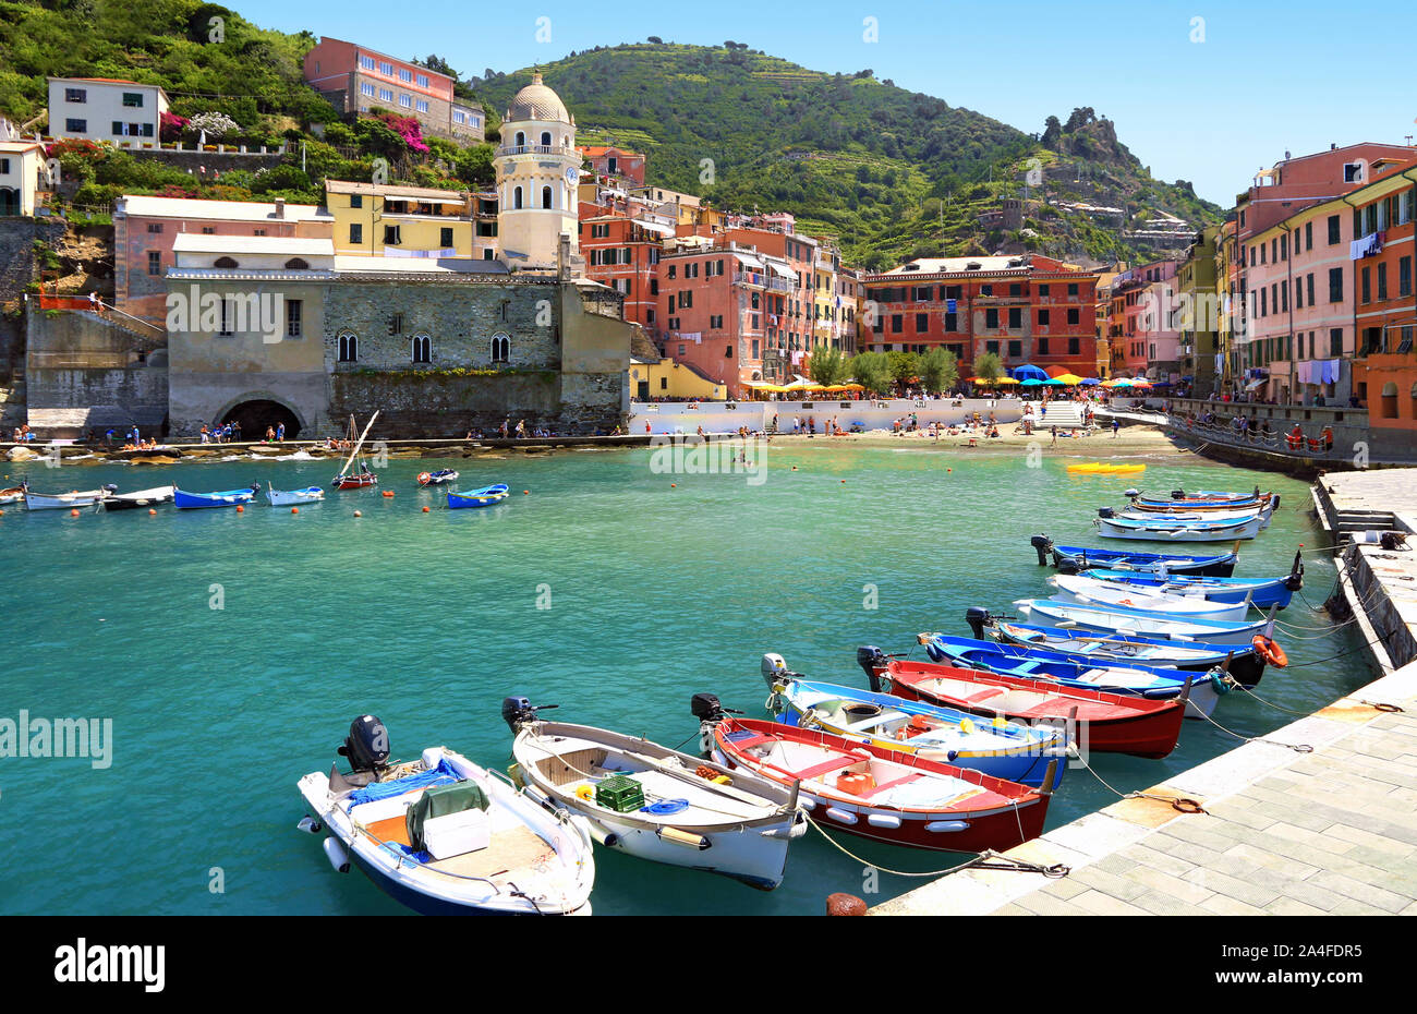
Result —
[[975, 641], [948, 634], [920, 634], [917, 640], [925, 645], [931, 661], [962, 669], [1047, 679], [1061, 686], [1080, 686], [1149, 701], [1180, 699], [1186, 695], [1186, 718], [1206, 718], [1216, 709], [1220, 695], [1230, 689], [1219, 669], [1202, 674], [1158, 665], [1080, 661], [1046, 648]]

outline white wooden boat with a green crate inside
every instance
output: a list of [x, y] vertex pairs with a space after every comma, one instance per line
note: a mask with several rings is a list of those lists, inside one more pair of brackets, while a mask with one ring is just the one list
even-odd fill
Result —
[[520, 777], [589, 820], [597, 842], [765, 891], [782, 882], [788, 845], [806, 832], [795, 787], [536, 712], [526, 698], [502, 703]]

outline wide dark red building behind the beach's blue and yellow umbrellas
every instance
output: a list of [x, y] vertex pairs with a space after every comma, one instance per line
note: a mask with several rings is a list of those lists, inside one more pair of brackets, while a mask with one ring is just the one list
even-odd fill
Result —
[[863, 352], [945, 347], [961, 376], [993, 352], [1090, 377], [1097, 369], [1097, 272], [1049, 257], [922, 258], [866, 278]]

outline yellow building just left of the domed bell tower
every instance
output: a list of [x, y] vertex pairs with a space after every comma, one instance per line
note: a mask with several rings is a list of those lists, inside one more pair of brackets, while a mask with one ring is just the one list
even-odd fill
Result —
[[326, 180], [324, 204], [341, 257], [497, 260], [493, 194]]

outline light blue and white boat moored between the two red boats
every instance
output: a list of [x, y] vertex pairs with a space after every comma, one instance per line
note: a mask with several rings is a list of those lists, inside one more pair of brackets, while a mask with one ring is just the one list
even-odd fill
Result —
[[762, 657], [772, 688], [769, 709], [784, 725], [820, 728], [836, 736], [969, 767], [1006, 781], [1057, 789], [1067, 766], [1067, 732], [904, 701], [890, 693], [819, 684], [791, 672], [781, 655]]

